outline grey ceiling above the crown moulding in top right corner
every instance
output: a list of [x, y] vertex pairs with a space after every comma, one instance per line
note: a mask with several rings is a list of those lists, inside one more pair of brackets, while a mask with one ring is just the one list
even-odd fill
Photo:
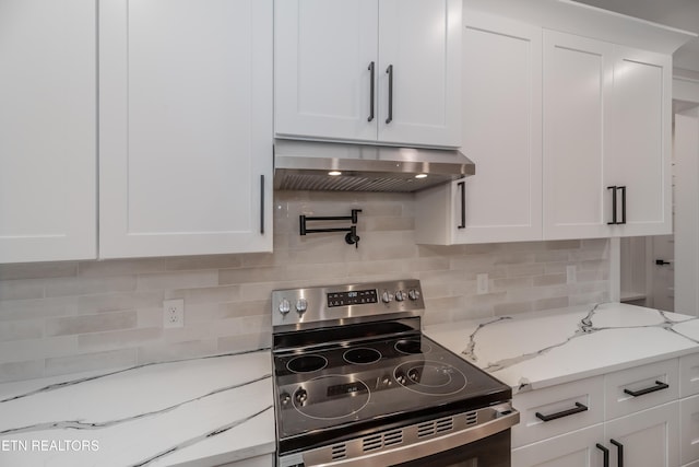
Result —
[[[577, 0], [605, 10], [699, 33], [699, 0]], [[699, 72], [699, 38], [680, 47], [674, 66]]]

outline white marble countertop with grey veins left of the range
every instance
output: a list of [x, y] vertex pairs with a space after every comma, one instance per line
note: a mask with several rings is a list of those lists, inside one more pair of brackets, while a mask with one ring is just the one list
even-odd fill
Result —
[[2, 466], [210, 466], [275, 450], [269, 351], [0, 385]]

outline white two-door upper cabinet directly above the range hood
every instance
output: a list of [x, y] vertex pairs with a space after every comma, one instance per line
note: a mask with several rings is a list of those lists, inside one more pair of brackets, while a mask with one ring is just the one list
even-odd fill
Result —
[[275, 133], [461, 144], [460, 0], [276, 0]]

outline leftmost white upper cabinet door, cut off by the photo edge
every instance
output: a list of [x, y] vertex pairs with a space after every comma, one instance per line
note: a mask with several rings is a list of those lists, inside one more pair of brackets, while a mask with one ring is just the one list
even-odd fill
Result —
[[95, 258], [96, 11], [0, 1], [0, 262]]

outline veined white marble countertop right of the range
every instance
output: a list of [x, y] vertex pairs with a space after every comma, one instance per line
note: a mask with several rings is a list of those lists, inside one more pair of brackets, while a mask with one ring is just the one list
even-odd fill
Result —
[[513, 393], [699, 352], [699, 318], [605, 303], [427, 326]]

